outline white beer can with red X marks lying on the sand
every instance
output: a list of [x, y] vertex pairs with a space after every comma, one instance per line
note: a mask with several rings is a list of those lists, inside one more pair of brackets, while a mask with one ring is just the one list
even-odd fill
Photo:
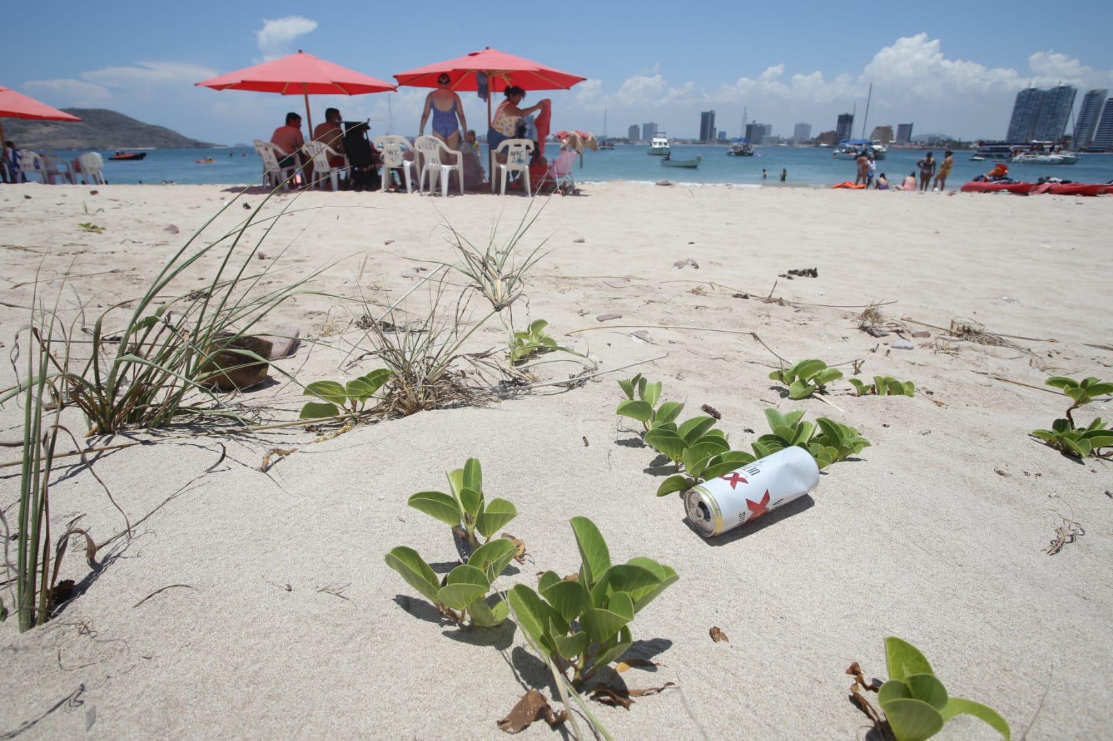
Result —
[[819, 466], [802, 447], [772, 455], [684, 492], [688, 522], [711, 537], [798, 500], [819, 483]]

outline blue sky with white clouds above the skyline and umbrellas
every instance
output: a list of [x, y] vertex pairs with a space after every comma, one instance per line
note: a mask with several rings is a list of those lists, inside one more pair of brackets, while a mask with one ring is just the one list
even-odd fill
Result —
[[[217, 92], [193, 83], [298, 48], [374, 77], [485, 46], [589, 78], [551, 97], [556, 128], [624, 136], [657, 121], [695, 136], [699, 111], [738, 136], [750, 120], [791, 136], [835, 127], [857, 103], [861, 126], [914, 122], [915, 134], [1003, 137], [1016, 91], [1064, 81], [1113, 89], [1113, 2], [738, 3], [708, 0], [699, 12], [676, 2], [546, 3], [487, 12], [490, 3], [210, 2], [12, 4], [9, 28], [37, 28], [45, 43], [8, 56], [0, 85], [59, 107], [97, 107], [233, 144], [267, 138], [301, 98]], [[579, 7], [598, 9], [581, 11]], [[391, 8], [396, 8], [396, 12]], [[529, 9], [528, 9], [529, 8]], [[533, 9], [535, 8], [535, 9]], [[49, 19], [43, 9], [49, 9]], [[528, 10], [526, 10], [528, 9]], [[540, 10], [536, 10], [540, 9]], [[1066, 10], [1068, 16], [1063, 16]], [[421, 21], [418, 19], [422, 19]], [[427, 20], [439, 19], [439, 20]], [[427, 90], [311, 99], [347, 119], [371, 118], [374, 134], [415, 134]], [[1077, 102], [1081, 103], [1081, 93]], [[463, 96], [473, 128], [485, 107]]]

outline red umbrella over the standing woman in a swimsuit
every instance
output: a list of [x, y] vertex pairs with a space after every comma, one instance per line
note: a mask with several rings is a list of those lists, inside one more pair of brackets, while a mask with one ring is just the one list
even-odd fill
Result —
[[[477, 75], [480, 72], [486, 75], [487, 126], [491, 125], [491, 96], [495, 92], [502, 92], [512, 85], [523, 90], [568, 90], [577, 82], [583, 82], [587, 79], [552, 67], [545, 67], [532, 59], [508, 55], [505, 51], [499, 51], [491, 47], [456, 59], [418, 67], [407, 72], [398, 72], [394, 79], [398, 81], [398, 85], [435, 88], [437, 87], [436, 78], [444, 72], [447, 72], [449, 77], [452, 78], [449, 86], [452, 90], [477, 90]], [[493, 176], [491, 177], [491, 189], [494, 189]]]

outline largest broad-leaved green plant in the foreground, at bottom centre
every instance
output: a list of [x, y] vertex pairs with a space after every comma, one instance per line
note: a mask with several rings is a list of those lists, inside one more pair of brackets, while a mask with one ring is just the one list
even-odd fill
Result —
[[587, 517], [572, 517], [580, 571], [562, 579], [546, 571], [538, 589], [515, 584], [506, 595], [531, 644], [548, 654], [572, 684], [583, 688], [599, 670], [622, 658], [633, 642], [630, 623], [679, 577], [652, 559], [612, 564], [607, 542]]

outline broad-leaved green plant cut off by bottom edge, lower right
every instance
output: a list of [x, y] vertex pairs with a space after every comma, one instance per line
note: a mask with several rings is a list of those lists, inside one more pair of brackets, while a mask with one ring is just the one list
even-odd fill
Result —
[[995, 710], [973, 700], [952, 698], [924, 654], [898, 638], [885, 639], [889, 680], [881, 684], [877, 701], [897, 741], [929, 739], [955, 715], [973, 715], [985, 721], [1006, 741], [1008, 723]]

